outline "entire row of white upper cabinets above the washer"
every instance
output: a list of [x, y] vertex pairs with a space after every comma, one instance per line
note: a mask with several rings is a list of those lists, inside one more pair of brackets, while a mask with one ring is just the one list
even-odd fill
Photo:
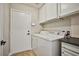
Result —
[[39, 9], [40, 23], [79, 13], [79, 3], [46, 3]]

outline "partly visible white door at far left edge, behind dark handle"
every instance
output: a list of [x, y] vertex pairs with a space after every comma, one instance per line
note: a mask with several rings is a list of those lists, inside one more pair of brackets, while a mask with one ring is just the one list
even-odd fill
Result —
[[0, 56], [3, 55], [3, 46], [1, 41], [3, 40], [3, 4], [0, 4]]

